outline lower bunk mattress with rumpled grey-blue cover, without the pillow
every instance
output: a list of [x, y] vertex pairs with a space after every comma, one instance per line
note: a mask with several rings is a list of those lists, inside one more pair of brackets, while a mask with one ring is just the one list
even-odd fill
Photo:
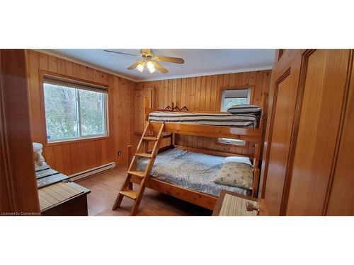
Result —
[[[176, 184], [197, 192], [219, 196], [222, 189], [244, 195], [251, 195], [249, 189], [217, 184], [214, 179], [217, 171], [226, 161], [249, 163], [249, 158], [228, 157], [193, 153], [178, 148], [172, 148], [156, 156], [151, 175], [157, 179]], [[137, 161], [137, 170], [144, 171], [148, 159]]]

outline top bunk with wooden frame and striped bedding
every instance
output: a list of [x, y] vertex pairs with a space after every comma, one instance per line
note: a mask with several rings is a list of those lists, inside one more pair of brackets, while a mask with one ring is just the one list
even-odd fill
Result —
[[157, 131], [164, 122], [164, 132], [205, 136], [213, 138], [239, 139], [261, 142], [266, 97], [263, 95], [261, 114], [230, 114], [229, 112], [190, 112], [177, 107], [160, 110], [149, 107], [148, 98], [144, 98], [144, 119]]

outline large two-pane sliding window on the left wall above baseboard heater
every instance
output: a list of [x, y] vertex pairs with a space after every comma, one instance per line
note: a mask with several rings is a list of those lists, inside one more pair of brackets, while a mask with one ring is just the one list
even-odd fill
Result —
[[45, 76], [48, 142], [107, 136], [107, 88]]

